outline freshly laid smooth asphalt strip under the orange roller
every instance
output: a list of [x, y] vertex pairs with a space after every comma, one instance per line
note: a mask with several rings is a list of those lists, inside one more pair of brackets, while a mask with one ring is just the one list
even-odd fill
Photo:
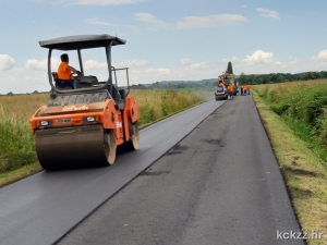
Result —
[[0, 188], [0, 244], [53, 244], [222, 103], [210, 100], [146, 127], [140, 149], [111, 167], [44, 171]]

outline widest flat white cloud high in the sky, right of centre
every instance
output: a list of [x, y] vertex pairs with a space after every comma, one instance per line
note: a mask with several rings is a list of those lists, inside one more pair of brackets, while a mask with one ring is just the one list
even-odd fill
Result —
[[240, 14], [220, 14], [207, 16], [186, 16], [177, 23], [179, 29], [213, 27], [217, 25], [237, 25], [247, 19]]

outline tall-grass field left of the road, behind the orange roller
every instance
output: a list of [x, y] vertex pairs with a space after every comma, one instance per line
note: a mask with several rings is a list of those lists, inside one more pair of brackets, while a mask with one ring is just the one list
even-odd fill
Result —
[[[141, 127], [204, 101], [203, 95], [194, 90], [131, 90], [141, 110]], [[0, 96], [0, 174], [37, 162], [29, 119], [48, 98], [48, 94]]]

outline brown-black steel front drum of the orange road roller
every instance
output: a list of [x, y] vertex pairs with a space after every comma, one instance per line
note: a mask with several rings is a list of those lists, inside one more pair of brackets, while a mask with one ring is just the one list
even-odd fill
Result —
[[108, 151], [107, 132], [101, 125], [38, 130], [35, 134], [37, 157], [46, 170], [108, 166], [114, 161], [116, 152], [108, 162], [112, 152]]

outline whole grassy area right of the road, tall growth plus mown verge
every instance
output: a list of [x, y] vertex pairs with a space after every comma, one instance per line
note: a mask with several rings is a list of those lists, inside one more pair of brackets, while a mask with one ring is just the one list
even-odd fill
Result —
[[253, 86], [253, 98], [269, 136], [303, 231], [323, 232], [327, 244], [327, 81]]

